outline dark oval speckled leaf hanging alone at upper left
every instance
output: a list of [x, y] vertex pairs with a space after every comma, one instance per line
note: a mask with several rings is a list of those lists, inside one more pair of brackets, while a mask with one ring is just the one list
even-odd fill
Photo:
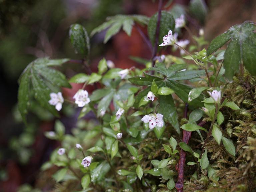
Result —
[[82, 25], [73, 24], [70, 26], [69, 39], [75, 49], [75, 53], [88, 57], [90, 53], [90, 39]]

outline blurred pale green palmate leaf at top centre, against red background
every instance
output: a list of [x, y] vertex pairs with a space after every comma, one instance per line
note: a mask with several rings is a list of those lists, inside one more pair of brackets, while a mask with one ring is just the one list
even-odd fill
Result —
[[91, 36], [109, 27], [104, 38], [104, 43], [107, 43], [108, 40], [117, 34], [121, 28], [126, 32], [127, 35], [131, 36], [134, 22], [141, 25], [147, 25], [148, 21], [149, 18], [143, 15], [116, 15], [113, 17], [108, 17], [105, 23], [96, 27], [91, 32]]

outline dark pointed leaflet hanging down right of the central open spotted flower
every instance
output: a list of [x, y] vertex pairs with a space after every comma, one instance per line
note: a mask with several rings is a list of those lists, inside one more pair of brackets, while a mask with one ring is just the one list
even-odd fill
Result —
[[180, 133], [179, 121], [178, 121], [179, 116], [178, 116], [172, 95], [167, 95], [167, 96], [160, 95], [158, 99], [159, 99], [158, 112], [161, 113], [164, 116], [164, 118], [171, 123], [171, 125], [175, 128], [177, 133]]

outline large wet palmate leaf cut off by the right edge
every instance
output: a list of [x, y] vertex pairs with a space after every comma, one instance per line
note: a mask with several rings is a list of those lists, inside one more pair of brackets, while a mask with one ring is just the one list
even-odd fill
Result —
[[256, 25], [253, 22], [244, 22], [240, 25], [232, 26], [225, 33], [212, 40], [208, 49], [207, 56], [221, 48], [226, 42], [230, 43], [224, 53], [223, 66], [225, 76], [232, 81], [232, 77], [239, 71], [239, 65], [243, 62], [245, 68], [256, 75]]

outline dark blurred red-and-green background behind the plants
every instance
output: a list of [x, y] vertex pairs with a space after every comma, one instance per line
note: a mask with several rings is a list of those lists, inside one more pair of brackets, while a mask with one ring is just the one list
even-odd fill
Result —
[[[232, 25], [256, 21], [256, 0], [202, 0], [200, 10], [195, 4], [197, 0], [173, 0], [169, 5], [168, 2], [164, 0], [165, 10], [173, 14], [186, 11], [192, 33], [197, 36], [203, 28], [208, 41]], [[50, 177], [40, 173], [41, 165], [58, 146], [43, 134], [53, 130], [54, 117], [32, 103], [26, 127], [17, 110], [17, 81], [24, 68], [38, 57], [81, 59], [81, 55], [74, 53], [68, 37], [73, 23], [82, 24], [90, 34], [107, 16], [150, 17], [156, 13], [157, 5], [157, 0], [0, 0], [0, 192], [17, 191], [24, 183], [28, 184], [27, 189], [29, 185], [42, 189], [44, 182], [54, 184]], [[140, 29], [147, 34], [146, 27]], [[141, 67], [129, 56], [151, 58], [151, 51], [136, 28], [131, 37], [121, 31], [103, 44], [105, 32], [91, 37], [92, 71], [97, 70], [98, 61], [103, 57], [120, 68]], [[182, 37], [188, 39], [189, 34], [184, 31]], [[61, 70], [67, 77], [83, 72], [79, 64], [65, 64]], [[72, 86], [70, 90], [63, 90], [64, 97], [73, 96], [81, 87]], [[88, 87], [90, 91], [93, 89]], [[78, 114], [79, 111], [64, 107], [61, 121], [66, 133], [70, 133]]]

